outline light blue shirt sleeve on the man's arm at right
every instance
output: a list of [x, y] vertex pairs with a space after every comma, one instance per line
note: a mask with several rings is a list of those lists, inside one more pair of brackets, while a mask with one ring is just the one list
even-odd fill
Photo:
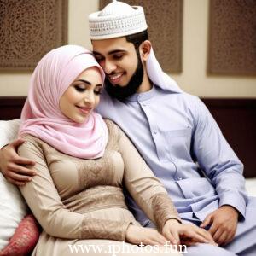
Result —
[[219, 206], [230, 205], [245, 217], [247, 192], [243, 165], [225, 140], [207, 107], [195, 97], [193, 153], [215, 187]]

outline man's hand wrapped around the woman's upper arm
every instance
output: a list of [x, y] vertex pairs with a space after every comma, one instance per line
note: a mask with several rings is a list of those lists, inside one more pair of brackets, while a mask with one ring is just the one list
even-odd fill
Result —
[[22, 143], [24, 143], [24, 140], [17, 139], [0, 150], [1, 172], [9, 183], [18, 186], [25, 185], [26, 182], [32, 180], [32, 176], [36, 175], [36, 172], [24, 167], [24, 165], [33, 166], [35, 162], [20, 157], [16, 152]]

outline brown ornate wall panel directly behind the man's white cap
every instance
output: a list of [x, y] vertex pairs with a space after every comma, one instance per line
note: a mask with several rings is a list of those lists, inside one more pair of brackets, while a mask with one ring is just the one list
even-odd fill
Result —
[[[100, 0], [100, 9], [109, 0]], [[148, 37], [154, 53], [166, 73], [182, 71], [183, 0], [123, 0], [131, 5], [143, 6]]]

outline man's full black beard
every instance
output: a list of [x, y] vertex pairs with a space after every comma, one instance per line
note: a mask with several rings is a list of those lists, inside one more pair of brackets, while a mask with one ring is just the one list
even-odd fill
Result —
[[128, 84], [126, 84], [125, 86], [120, 86], [119, 84], [113, 86], [113, 84], [111, 84], [109, 79], [106, 77], [105, 86], [108, 94], [110, 96], [113, 96], [113, 98], [118, 99], [119, 101], [124, 101], [127, 97], [132, 96], [137, 92], [137, 89], [143, 83], [143, 73], [143, 62], [139, 56], [139, 53], [137, 52], [137, 68]]

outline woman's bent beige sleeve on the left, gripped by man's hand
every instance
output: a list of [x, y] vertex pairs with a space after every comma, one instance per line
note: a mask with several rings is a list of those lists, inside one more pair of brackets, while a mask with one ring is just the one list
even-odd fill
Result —
[[37, 175], [20, 187], [20, 191], [46, 233], [69, 239], [125, 241], [129, 222], [85, 218], [83, 214], [71, 212], [63, 205], [44, 159], [44, 150], [36, 139], [26, 137], [26, 143], [20, 146], [18, 153], [36, 162], [30, 168]]

